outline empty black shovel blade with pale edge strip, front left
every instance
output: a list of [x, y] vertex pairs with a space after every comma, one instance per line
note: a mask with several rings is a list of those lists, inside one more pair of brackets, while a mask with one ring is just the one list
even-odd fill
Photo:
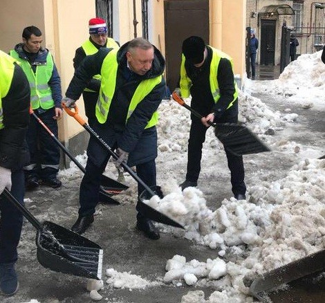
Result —
[[[43, 228], [57, 239], [70, 257], [62, 251], [53, 251], [43, 233], [37, 230], [37, 260], [42, 266], [59, 273], [102, 279], [103, 250], [98, 244], [50, 221], [45, 221]], [[78, 261], [71, 261], [71, 257]]]

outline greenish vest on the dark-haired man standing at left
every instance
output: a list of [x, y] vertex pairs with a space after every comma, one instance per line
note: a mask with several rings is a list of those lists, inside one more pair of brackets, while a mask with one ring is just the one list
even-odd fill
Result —
[[10, 55], [17, 59], [21, 68], [27, 76], [30, 86], [30, 105], [32, 109], [51, 109], [54, 107], [52, 90], [48, 85], [53, 73], [53, 58], [50, 53], [46, 56], [46, 64], [37, 65], [36, 73], [32, 71], [32, 66], [26, 59], [19, 57], [16, 50], [11, 50]]

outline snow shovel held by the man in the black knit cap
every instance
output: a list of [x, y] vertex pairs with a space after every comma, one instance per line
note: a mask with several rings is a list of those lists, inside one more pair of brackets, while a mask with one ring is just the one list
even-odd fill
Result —
[[[172, 97], [178, 104], [191, 111], [194, 116], [199, 119], [203, 118], [200, 113], [192, 109], [192, 107], [189, 107], [176, 91], [172, 93]], [[235, 156], [270, 152], [270, 148], [261, 142], [250, 129], [243, 125], [237, 125], [235, 123], [207, 123], [214, 127], [216, 137]]]

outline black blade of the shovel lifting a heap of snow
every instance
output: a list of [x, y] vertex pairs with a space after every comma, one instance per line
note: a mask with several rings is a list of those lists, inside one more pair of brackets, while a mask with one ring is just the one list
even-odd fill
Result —
[[[160, 198], [163, 198], [163, 192], [161, 191], [160, 186], [154, 186], [151, 187], [152, 190], [154, 190], [155, 194], [157, 194]], [[144, 200], [149, 200], [151, 199], [151, 194], [149, 192], [147, 192], [147, 190], [144, 190], [141, 194], [140, 194], [140, 201], [138, 204], [138, 211], [143, 214], [143, 216], [151, 219], [152, 221], [156, 221], [158, 223], [163, 223], [166, 225], [170, 225], [170, 226], [174, 226], [177, 228], [183, 228], [184, 226], [182, 226], [180, 223], [174, 221], [173, 219], [169, 218], [167, 215], [162, 214], [161, 212], [158, 212], [157, 210], [155, 210], [154, 208], [151, 208], [151, 206], [147, 205], [146, 203], [144, 203]]]

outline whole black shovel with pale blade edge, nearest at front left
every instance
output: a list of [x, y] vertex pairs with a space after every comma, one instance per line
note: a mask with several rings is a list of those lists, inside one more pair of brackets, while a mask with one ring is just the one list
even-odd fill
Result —
[[103, 250], [99, 245], [50, 221], [41, 224], [8, 190], [3, 196], [37, 229], [37, 260], [42, 266], [59, 273], [102, 278]]

